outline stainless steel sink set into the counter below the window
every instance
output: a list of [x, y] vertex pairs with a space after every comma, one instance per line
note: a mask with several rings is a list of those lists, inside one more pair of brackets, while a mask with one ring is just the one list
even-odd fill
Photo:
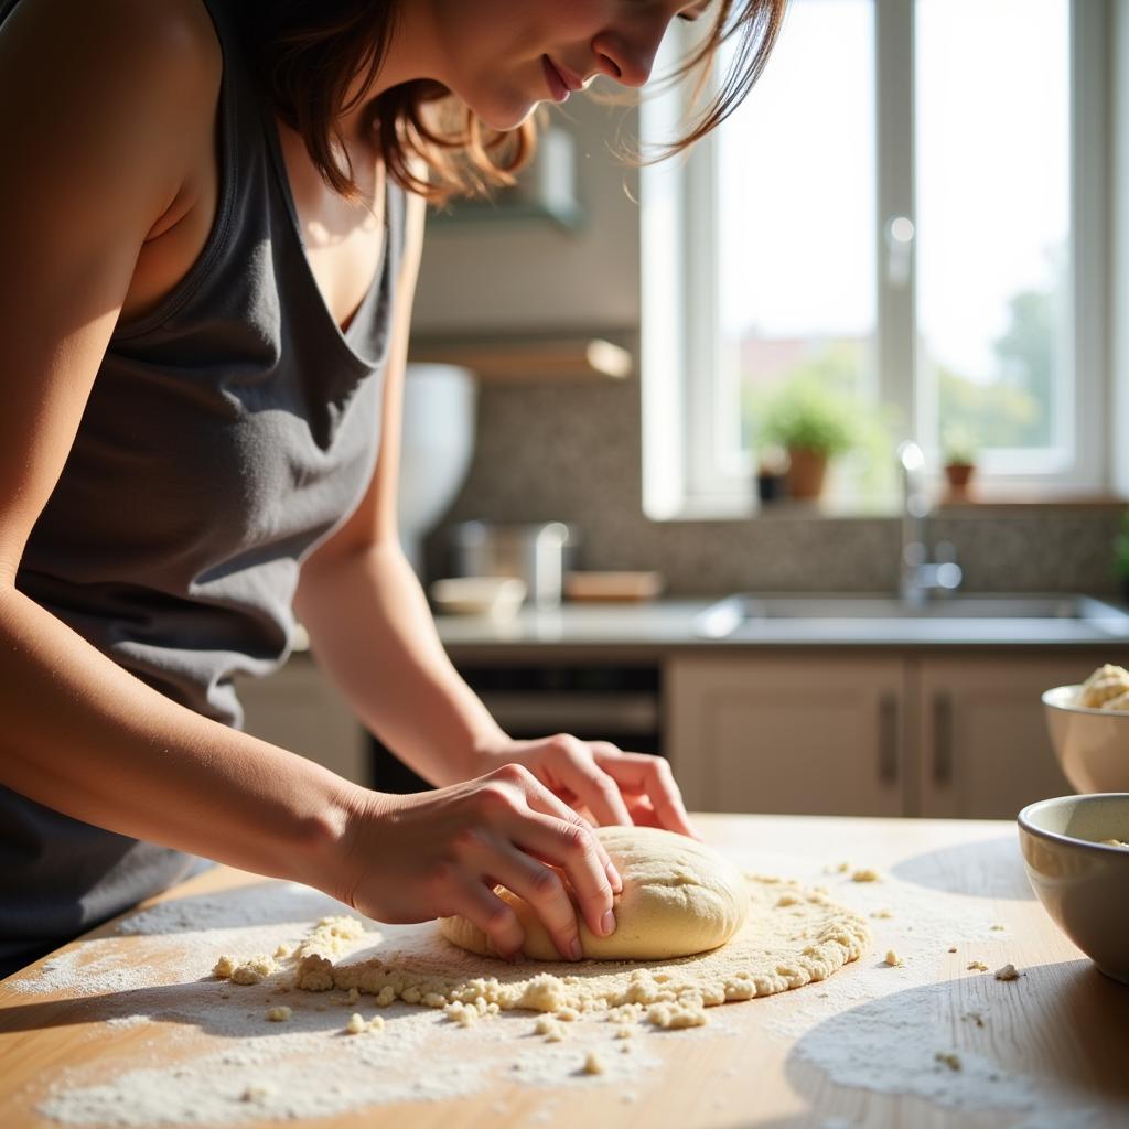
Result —
[[914, 605], [894, 596], [743, 593], [711, 604], [694, 623], [695, 633], [706, 639], [754, 638], [765, 631], [779, 637], [788, 627], [804, 636], [816, 629], [863, 638], [1074, 636], [1073, 627], [1123, 637], [1129, 636], [1129, 614], [1077, 595], [949, 595]]

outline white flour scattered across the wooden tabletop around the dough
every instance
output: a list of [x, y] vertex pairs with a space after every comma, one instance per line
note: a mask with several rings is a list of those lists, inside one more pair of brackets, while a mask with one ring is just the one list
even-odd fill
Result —
[[[738, 851], [733, 855], [739, 857]], [[908, 1094], [944, 1111], [1006, 1117], [1012, 1129], [1099, 1129], [1108, 1123], [1108, 1118], [1091, 1109], [1057, 1102], [1043, 1079], [1000, 1060], [991, 1024], [984, 1024], [983, 1017], [996, 1006], [1014, 1006], [1008, 1001], [1015, 998], [1010, 995], [1015, 986], [999, 983], [991, 975], [944, 971], [949, 961], [945, 952], [957, 946], [963, 954], [994, 961], [992, 966], [1014, 955], [1008, 936], [990, 929], [998, 920], [991, 899], [970, 902], [944, 890], [903, 882], [898, 868], [886, 872], [882, 882], [855, 883], [849, 865], [828, 872], [825, 857], [808, 858], [803, 851], [771, 855], [758, 850], [750, 863], [755, 865], [752, 873], [789, 874], [807, 889], [820, 873], [834, 873], [835, 894], [864, 917], [870, 916], [877, 952], [895, 952], [902, 962], [898, 974], [891, 975], [884, 963], [859, 961], [825, 980], [819, 991], [759, 1001], [759, 1023], [794, 1043], [786, 1066], [789, 1075], [793, 1065], [803, 1065], [805, 1071], [814, 1068], [847, 1088]], [[1015, 867], [1018, 870], [1017, 859]], [[1000, 881], [1005, 879], [1010, 881], [1007, 875]], [[1022, 870], [1018, 881], [1023, 881]], [[269, 896], [263, 896], [264, 890]], [[785, 883], [780, 893], [787, 892]], [[294, 962], [260, 984], [229, 988], [211, 974], [218, 956], [272, 953], [280, 943], [297, 951], [310, 922], [340, 913], [341, 907], [305, 887], [278, 884], [237, 895], [210, 895], [200, 900], [199, 918], [191, 901], [164, 916], [158, 916], [163, 907], [138, 914], [140, 927], [123, 925], [120, 933], [132, 934], [138, 942], [132, 954], [140, 957], [139, 968], [122, 968], [120, 953], [115, 965], [108, 951], [89, 942], [81, 946], [81, 960], [65, 954], [40, 973], [46, 987], [29, 987], [26, 980], [12, 983], [20, 990], [79, 997], [116, 994], [77, 999], [73, 1006], [88, 1009], [94, 1018], [112, 1017], [112, 1031], [160, 1023], [159, 1044], [154, 1041], [152, 1045], [159, 1045], [161, 1061], [168, 1054], [176, 1059], [160, 1067], [128, 1062], [121, 1054], [114, 1059], [111, 1038], [98, 1062], [59, 1078], [40, 1106], [43, 1113], [86, 1126], [225, 1126], [357, 1113], [405, 1100], [455, 1100], [500, 1082], [539, 1092], [542, 1087], [606, 1086], [636, 1095], [664, 1068], [665, 1060], [657, 1053], [663, 1040], [739, 1035], [741, 1025], [719, 1022], [728, 1008], [708, 1008], [707, 1025], [672, 1033], [642, 1022], [646, 1008], [628, 1003], [567, 1021], [548, 1010], [544, 1018], [552, 1021], [553, 1030], [567, 1030], [567, 1038], [545, 1042], [544, 1034], [534, 1033], [537, 1018], [528, 1012], [483, 1014], [467, 1004], [409, 1007], [394, 994], [382, 1000], [379, 992], [360, 990], [353, 999], [349, 988], [357, 983], [347, 984], [348, 978], [321, 995], [290, 991], [282, 997], [291, 1008], [290, 1021], [264, 1023], [264, 1010], [292, 986]], [[895, 917], [887, 916], [891, 908]], [[163, 933], [166, 927], [172, 935]], [[364, 964], [376, 937], [380, 938], [377, 952], [387, 965], [412, 966], [422, 960], [432, 968], [436, 956], [455, 960], [431, 924], [380, 925], [380, 934], [371, 931], [374, 926], [367, 928], [343, 960], [329, 962], [331, 968]], [[146, 948], [150, 938], [151, 951]], [[180, 977], [170, 981], [167, 955], [182, 940], [191, 945], [180, 951], [184, 963]], [[962, 969], [965, 959], [959, 965]], [[465, 957], [455, 969], [465, 974], [481, 966], [480, 959]], [[507, 971], [519, 975], [507, 965], [492, 964], [491, 969], [498, 970], [499, 978]], [[575, 965], [562, 969], [561, 974], [577, 972]], [[1038, 969], [1026, 974], [1030, 990], [1038, 990]], [[115, 981], [119, 987], [111, 987]], [[560, 999], [545, 1003], [555, 1003], [557, 1010], [568, 1006]], [[342, 1013], [341, 1004], [349, 1012]], [[352, 1010], [366, 1023], [383, 1017], [383, 1032], [344, 1036], [344, 1022]], [[460, 1017], [470, 1010], [475, 1014]], [[623, 1031], [631, 1034], [623, 1035]], [[135, 1047], [134, 1041], [130, 1051]], [[602, 1074], [587, 1073], [589, 1054], [598, 1059]], [[436, 1062], [443, 1064], [441, 1070], [435, 1069]], [[742, 1071], [737, 1066], [727, 1073]], [[795, 1084], [804, 1092], [802, 1083]], [[1077, 1101], [1084, 1102], [1085, 1096]], [[553, 1120], [559, 1113], [563, 1115], [563, 1110], [546, 1103], [527, 1114], [526, 1123]]]

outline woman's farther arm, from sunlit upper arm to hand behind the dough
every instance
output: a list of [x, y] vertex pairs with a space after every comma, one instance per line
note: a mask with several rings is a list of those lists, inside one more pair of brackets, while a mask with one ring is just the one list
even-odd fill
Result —
[[567, 734], [511, 741], [447, 657], [396, 528], [403, 384], [423, 201], [411, 198], [390, 342], [380, 450], [356, 513], [304, 563], [295, 602], [320, 663], [359, 717], [437, 786], [519, 763], [598, 823], [697, 835], [669, 764]]

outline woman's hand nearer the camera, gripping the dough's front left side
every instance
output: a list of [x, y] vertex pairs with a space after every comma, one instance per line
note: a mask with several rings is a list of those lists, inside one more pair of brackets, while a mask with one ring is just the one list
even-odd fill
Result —
[[411, 796], [358, 791], [343, 846], [342, 889], [332, 892], [378, 921], [462, 914], [513, 959], [525, 938], [493, 892], [501, 885], [534, 908], [566, 960], [579, 960], [570, 886], [597, 937], [615, 929], [612, 895], [623, 886], [607, 851], [588, 823], [516, 763]]

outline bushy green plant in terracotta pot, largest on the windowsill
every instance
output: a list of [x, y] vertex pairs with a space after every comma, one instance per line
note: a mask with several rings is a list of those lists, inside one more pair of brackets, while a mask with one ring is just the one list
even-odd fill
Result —
[[785, 384], [765, 404], [760, 431], [788, 452], [788, 493], [819, 498], [828, 463], [857, 440], [858, 409], [813, 379]]

